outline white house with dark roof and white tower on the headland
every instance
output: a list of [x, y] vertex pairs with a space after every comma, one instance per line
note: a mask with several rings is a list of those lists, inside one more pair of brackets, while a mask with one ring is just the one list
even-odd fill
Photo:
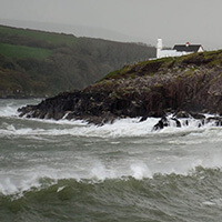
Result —
[[175, 44], [172, 50], [164, 50], [162, 39], [158, 39], [157, 44], [157, 58], [164, 57], [181, 57], [184, 54], [190, 54], [194, 52], [203, 52], [203, 47], [201, 44], [190, 44], [186, 42], [185, 44]]

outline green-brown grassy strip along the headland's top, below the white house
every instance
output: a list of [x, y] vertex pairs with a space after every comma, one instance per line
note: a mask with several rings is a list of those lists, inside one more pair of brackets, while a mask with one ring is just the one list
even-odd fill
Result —
[[[206, 51], [203, 53], [192, 53], [183, 57], [169, 57], [158, 60], [145, 60], [138, 62], [133, 65], [124, 65], [120, 70], [110, 72], [103, 80], [111, 79], [128, 79], [137, 75], [152, 75], [157, 72], [167, 73], [171, 68], [178, 68], [181, 71], [189, 69], [191, 72], [199, 69], [201, 65], [206, 68], [216, 67], [222, 64], [222, 50]], [[193, 73], [193, 72], [192, 72]]]

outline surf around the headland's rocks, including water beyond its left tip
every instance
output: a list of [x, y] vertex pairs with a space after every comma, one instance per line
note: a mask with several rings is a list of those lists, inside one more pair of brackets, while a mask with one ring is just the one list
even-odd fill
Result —
[[[0, 137], [4, 135], [75, 135], [75, 137], [99, 137], [99, 138], [124, 138], [124, 137], [149, 137], [151, 133], [199, 133], [214, 129], [212, 122], [201, 125], [200, 120], [181, 119], [181, 128], [176, 128], [175, 121], [170, 120], [169, 127], [153, 131], [153, 127], [160, 120], [159, 118], [148, 118], [140, 122], [140, 118], [135, 119], [118, 119], [112, 124], [104, 125], [88, 124], [81, 120], [39, 120], [18, 118], [18, 108], [27, 103], [38, 103], [40, 100], [2, 100], [0, 105], [0, 118], [17, 119], [18, 124], [13, 122], [2, 122], [0, 125]], [[209, 118], [209, 114], [205, 114]], [[20, 124], [20, 122], [22, 124]], [[29, 128], [26, 125], [28, 122]], [[37, 123], [36, 123], [37, 122]], [[186, 124], [189, 122], [189, 125]], [[38, 127], [32, 127], [38, 125]], [[46, 128], [47, 125], [47, 128]], [[51, 125], [51, 127], [49, 127]], [[209, 133], [209, 132], [208, 132]]]

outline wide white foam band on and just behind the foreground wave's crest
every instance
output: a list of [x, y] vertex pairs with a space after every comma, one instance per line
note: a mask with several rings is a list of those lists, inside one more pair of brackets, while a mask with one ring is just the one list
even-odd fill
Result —
[[[145, 155], [145, 154], [144, 154]], [[9, 194], [22, 194], [30, 189], [41, 189], [42, 186], [49, 186], [56, 184], [58, 180], [74, 179], [77, 181], [88, 180], [91, 182], [100, 182], [105, 179], [125, 179], [132, 176], [137, 180], [144, 178], [152, 179], [154, 174], [171, 174], [176, 173], [181, 175], [188, 175], [195, 171], [196, 167], [203, 168], [222, 168], [221, 163], [222, 154], [215, 153], [214, 155], [201, 155], [195, 157], [175, 157], [175, 155], [162, 155], [159, 158], [145, 157], [141, 158], [125, 158], [119, 161], [102, 162], [97, 158], [88, 157], [84, 161], [67, 162], [65, 164], [51, 165], [41, 164], [31, 168], [20, 168], [13, 170], [0, 171], [0, 193], [4, 195]], [[48, 160], [52, 162], [52, 160]], [[42, 179], [47, 180], [47, 183], [42, 183]], [[63, 189], [58, 189], [60, 192]]]

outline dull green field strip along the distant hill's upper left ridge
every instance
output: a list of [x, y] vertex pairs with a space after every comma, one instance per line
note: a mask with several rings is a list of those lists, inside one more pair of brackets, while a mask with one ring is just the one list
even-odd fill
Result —
[[37, 40], [42, 40], [51, 44], [68, 44], [72, 46], [78, 41], [78, 38], [73, 34], [61, 34], [46, 31], [37, 31], [29, 29], [18, 29], [0, 26], [0, 33], [6, 33], [9, 36], [22, 36], [30, 37]]

